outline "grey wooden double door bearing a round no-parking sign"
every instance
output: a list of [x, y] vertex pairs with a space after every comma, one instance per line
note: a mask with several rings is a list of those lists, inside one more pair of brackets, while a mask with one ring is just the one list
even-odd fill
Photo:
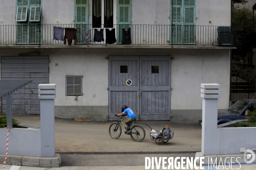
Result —
[[109, 56], [109, 120], [122, 105], [137, 120], [170, 120], [171, 56]]

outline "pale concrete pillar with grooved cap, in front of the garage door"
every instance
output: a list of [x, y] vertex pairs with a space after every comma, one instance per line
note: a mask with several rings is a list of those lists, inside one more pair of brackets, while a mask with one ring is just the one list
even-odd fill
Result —
[[54, 99], [56, 84], [39, 84], [41, 157], [55, 156]]

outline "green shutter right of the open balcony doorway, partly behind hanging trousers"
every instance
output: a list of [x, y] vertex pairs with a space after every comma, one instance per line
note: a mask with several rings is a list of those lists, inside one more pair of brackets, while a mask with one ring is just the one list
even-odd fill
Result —
[[131, 0], [118, 0], [117, 43], [122, 42], [122, 27], [127, 31], [131, 26]]

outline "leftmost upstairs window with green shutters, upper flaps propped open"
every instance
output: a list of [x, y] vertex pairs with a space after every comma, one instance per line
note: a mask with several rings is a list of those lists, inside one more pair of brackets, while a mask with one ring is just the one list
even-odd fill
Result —
[[17, 0], [16, 44], [41, 43], [42, 0]]

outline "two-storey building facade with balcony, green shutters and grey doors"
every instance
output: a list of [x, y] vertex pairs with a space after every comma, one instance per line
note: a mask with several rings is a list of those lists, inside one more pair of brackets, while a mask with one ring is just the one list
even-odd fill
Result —
[[[13, 113], [39, 114], [37, 85], [55, 83], [57, 117], [114, 120], [128, 105], [138, 120], [195, 124], [201, 83], [220, 84], [219, 108], [229, 106], [233, 47], [218, 46], [217, 28], [230, 26], [230, 10], [223, 0], [4, 0], [1, 79], [33, 80], [13, 95]], [[76, 28], [78, 43], [52, 40], [54, 27]], [[104, 41], [81, 40], [101, 28]]]

